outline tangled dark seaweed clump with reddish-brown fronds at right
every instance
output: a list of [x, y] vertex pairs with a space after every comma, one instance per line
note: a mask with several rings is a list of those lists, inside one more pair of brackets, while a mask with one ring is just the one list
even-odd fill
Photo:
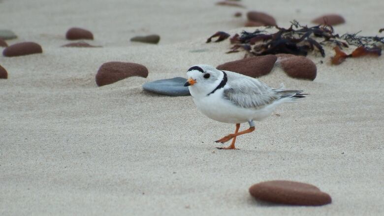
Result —
[[[384, 45], [384, 37], [359, 36], [357, 35], [359, 32], [339, 36], [329, 25], [307, 27], [301, 26], [297, 21], [292, 21], [288, 29], [277, 26], [275, 28], [278, 29], [275, 33], [256, 30], [254, 32], [243, 31], [241, 35], [233, 35], [230, 38], [230, 43], [233, 46], [227, 53], [245, 50], [250, 56], [270, 54], [307, 56], [309, 52], [319, 52], [322, 57], [325, 57], [323, 45], [331, 44], [335, 46], [334, 50], [336, 52], [331, 62], [339, 64], [350, 57], [380, 56], [381, 47]], [[348, 48], [349, 45], [357, 46], [357, 48], [352, 54], [347, 55], [341, 49]]]

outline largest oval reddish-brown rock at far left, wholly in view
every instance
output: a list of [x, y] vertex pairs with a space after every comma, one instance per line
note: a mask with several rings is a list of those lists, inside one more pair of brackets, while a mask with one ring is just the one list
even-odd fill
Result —
[[25, 56], [35, 53], [42, 53], [41, 46], [34, 42], [22, 42], [13, 44], [2, 51], [6, 57]]

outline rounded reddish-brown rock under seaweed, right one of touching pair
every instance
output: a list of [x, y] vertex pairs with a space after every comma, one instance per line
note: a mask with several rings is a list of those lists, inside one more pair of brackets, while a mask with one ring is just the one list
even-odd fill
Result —
[[291, 54], [278, 54], [277, 62], [281, 65], [288, 76], [299, 79], [314, 80], [317, 74], [317, 67], [312, 60], [304, 56]]

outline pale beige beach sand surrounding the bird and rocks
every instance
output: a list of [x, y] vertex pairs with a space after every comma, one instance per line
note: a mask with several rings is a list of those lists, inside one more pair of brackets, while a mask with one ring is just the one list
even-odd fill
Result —
[[[243, 58], [224, 54], [229, 41], [206, 44], [216, 31], [240, 32], [237, 11], [260, 10], [288, 27], [323, 14], [343, 15], [340, 33], [383, 28], [384, 5], [372, 1], [2, 0], [0, 29], [34, 41], [43, 54], [0, 57], [0, 215], [345, 215], [384, 212], [384, 61], [348, 59], [339, 66], [311, 55], [314, 82], [281, 69], [260, 79], [310, 93], [281, 106], [237, 139], [239, 151], [214, 143], [234, 125], [200, 114], [190, 96], [143, 92], [144, 82], [186, 76], [196, 63]], [[102, 48], [62, 48], [65, 31], [94, 33]], [[239, 29], [240, 28], [240, 29]], [[250, 30], [253, 30], [252, 28]], [[159, 45], [132, 43], [158, 33]], [[136, 62], [148, 78], [97, 87], [98, 67]], [[320, 63], [323, 61], [324, 63]], [[243, 125], [242, 128], [246, 128]], [[332, 204], [290, 207], [260, 203], [248, 188], [267, 180], [317, 185]]]

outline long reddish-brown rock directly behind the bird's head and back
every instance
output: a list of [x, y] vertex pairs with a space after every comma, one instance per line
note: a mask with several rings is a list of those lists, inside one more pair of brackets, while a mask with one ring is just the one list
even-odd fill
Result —
[[277, 58], [274, 55], [257, 56], [226, 62], [217, 66], [219, 70], [229, 70], [250, 77], [260, 77], [271, 72]]

